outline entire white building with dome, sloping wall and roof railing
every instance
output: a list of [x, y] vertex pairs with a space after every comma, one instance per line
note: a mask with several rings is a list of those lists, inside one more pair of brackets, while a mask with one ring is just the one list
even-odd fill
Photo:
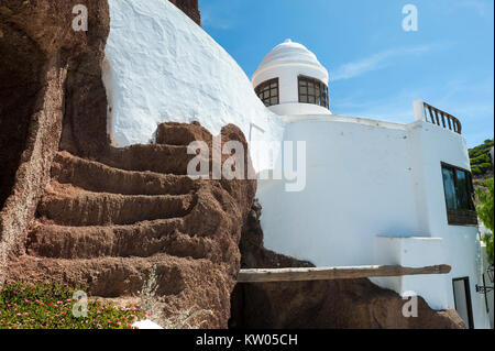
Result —
[[318, 266], [449, 264], [448, 275], [374, 283], [413, 290], [435, 309], [457, 308], [470, 327], [490, 326], [475, 289], [482, 285], [480, 242], [457, 119], [421, 101], [408, 124], [336, 116], [328, 70], [301, 44], [276, 46], [250, 81], [168, 1], [109, 3], [103, 79], [116, 145], [148, 142], [163, 121], [197, 120], [213, 133], [234, 123], [252, 142], [262, 174], [278, 171], [284, 153], [255, 141], [304, 141], [301, 191], [260, 180], [268, 249]]

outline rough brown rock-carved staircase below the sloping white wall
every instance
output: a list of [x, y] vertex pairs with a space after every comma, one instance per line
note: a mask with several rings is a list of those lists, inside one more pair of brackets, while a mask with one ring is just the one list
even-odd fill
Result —
[[[132, 300], [156, 265], [164, 316], [209, 309], [213, 316], [198, 316], [204, 327], [226, 328], [256, 182], [189, 178], [187, 145], [212, 140], [199, 124], [164, 124], [157, 135], [161, 144], [110, 149], [98, 162], [59, 152], [8, 281], [69, 283]], [[238, 128], [221, 136], [248, 150]]]

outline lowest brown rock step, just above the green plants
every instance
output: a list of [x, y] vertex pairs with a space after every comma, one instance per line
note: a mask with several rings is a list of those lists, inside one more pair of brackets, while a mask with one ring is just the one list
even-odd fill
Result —
[[156, 254], [151, 257], [100, 257], [63, 260], [20, 256], [11, 262], [8, 282], [67, 283], [90, 296], [138, 296], [150, 272], [156, 266], [157, 295], [178, 295], [194, 272], [213, 270], [208, 260]]

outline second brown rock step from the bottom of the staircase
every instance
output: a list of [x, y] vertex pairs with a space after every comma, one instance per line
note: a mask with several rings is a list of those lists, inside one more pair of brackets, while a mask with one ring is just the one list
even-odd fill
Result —
[[30, 231], [26, 248], [31, 255], [52, 259], [146, 257], [156, 253], [210, 259], [215, 254], [211, 239], [183, 234], [182, 227], [182, 218], [109, 227], [37, 222]]

